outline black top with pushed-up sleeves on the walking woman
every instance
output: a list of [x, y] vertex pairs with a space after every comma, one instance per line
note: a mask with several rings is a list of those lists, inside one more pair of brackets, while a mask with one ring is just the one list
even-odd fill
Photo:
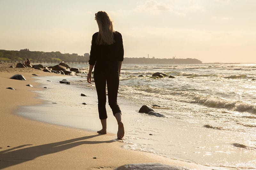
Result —
[[[98, 68], [108, 65], [108, 68], [118, 68], [117, 61], [124, 60], [123, 39], [120, 32], [114, 32], [115, 43], [111, 45], [96, 45], [98, 32], [92, 35], [92, 46], [90, 52], [90, 65], [98, 65]], [[114, 65], [113, 65], [114, 64]], [[95, 66], [96, 67], [96, 66]], [[95, 71], [95, 69], [94, 69]]]

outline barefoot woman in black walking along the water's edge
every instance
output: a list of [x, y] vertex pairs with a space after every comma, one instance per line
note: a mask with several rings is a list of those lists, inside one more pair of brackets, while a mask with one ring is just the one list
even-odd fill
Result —
[[94, 82], [98, 96], [98, 111], [102, 129], [97, 131], [101, 134], [107, 133], [107, 111], [106, 111], [106, 82], [108, 87], [108, 104], [116, 117], [118, 124], [117, 138], [124, 137], [124, 124], [122, 113], [117, 104], [117, 92], [119, 87], [119, 76], [124, 60], [124, 47], [122, 35], [114, 31], [113, 23], [108, 14], [99, 11], [95, 14], [99, 32], [92, 35], [92, 46], [89, 60], [89, 72], [87, 82], [92, 83], [92, 69], [94, 67]]

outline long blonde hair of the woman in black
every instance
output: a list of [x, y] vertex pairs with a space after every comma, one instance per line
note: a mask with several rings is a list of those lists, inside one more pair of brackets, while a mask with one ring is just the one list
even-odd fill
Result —
[[99, 27], [99, 33], [96, 39], [97, 45], [111, 45], [115, 43], [113, 22], [107, 12], [99, 11], [95, 14], [95, 20]]

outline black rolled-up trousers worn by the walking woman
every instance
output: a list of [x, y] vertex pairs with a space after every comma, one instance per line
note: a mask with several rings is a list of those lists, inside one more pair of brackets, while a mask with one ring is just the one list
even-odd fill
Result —
[[120, 107], [117, 104], [117, 92], [119, 87], [118, 71], [96, 71], [94, 69], [94, 82], [98, 96], [98, 111], [100, 119], [106, 119], [106, 82], [108, 87], [108, 104], [112, 109], [113, 115], [121, 113]]

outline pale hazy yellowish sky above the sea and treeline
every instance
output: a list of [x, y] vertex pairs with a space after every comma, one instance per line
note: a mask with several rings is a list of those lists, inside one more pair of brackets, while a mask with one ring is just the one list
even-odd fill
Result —
[[124, 57], [256, 63], [256, 0], [0, 0], [0, 49], [90, 53], [106, 11]]

